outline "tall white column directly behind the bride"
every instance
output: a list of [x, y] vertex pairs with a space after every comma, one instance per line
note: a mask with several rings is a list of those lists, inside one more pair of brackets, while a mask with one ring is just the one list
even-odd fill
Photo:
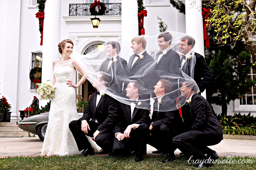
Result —
[[[61, 1], [46, 1], [44, 8], [42, 82], [53, 80], [52, 61], [59, 58]], [[42, 106], [48, 101], [43, 100]]]

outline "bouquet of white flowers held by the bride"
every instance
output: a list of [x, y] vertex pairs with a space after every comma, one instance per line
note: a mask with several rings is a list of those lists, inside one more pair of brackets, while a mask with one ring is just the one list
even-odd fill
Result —
[[47, 80], [46, 83], [36, 83], [36, 85], [38, 86], [36, 93], [40, 95], [40, 100], [50, 100], [54, 96], [56, 87], [51, 80]]

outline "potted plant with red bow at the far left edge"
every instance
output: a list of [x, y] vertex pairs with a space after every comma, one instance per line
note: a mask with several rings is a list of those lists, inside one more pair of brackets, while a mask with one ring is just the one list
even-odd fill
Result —
[[2, 96], [0, 99], [0, 120], [1, 122], [11, 121], [11, 105], [7, 102], [7, 99]]

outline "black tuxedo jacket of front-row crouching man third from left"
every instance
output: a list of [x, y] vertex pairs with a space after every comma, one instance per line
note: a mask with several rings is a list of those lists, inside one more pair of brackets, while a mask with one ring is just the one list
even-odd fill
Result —
[[183, 121], [179, 115], [179, 111], [168, 111], [170, 110], [170, 105], [176, 105], [174, 101], [167, 95], [163, 96], [161, 100], [163, 102], [159, 105], [159, 110], [164, 109], [167, 112], [158, 112], [158, 103], [157, 101], [154, 102], [154, 111], [151, 117], [151, 122], [154, 122], [152, 125], [153, 128], [165, 124], [168, 125], [170, 129], [173, 129], [175, 133], [183, 132]]

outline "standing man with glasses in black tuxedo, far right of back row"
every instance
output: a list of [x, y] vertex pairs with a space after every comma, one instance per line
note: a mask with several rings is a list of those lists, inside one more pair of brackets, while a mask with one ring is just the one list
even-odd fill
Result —
[[[179, 42], [179, 48], [180, 52], [183, 53], [185, 56], [181, 56], [180, 66], [184, 73], [186, 73], [188, 76], [195, 80], [200, 92], [203, 92], [212, 81], [213, 74], [206, 63], [205, 58], [201, 54], [193, 51], [194, 46], [195, 39], [193, 37], [189, 35], [181, 37]], [[191, 65], [193, 64], [192, 61], [194, 60], [193, 57], [196, 58], [196, 63], [194, 70], [191, 70]]]

